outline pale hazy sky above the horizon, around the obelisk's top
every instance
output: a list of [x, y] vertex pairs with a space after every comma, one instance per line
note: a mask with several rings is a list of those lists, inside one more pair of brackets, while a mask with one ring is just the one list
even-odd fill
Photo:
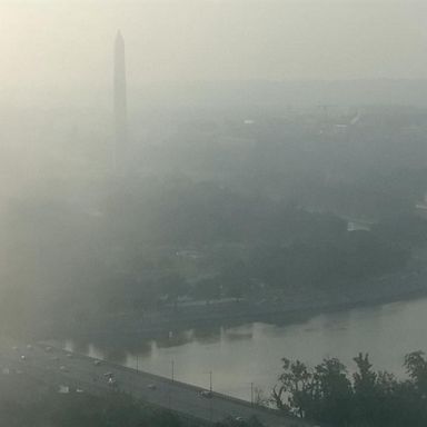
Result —
[[118, 28], [131, 83], [427, 78], [426, 22], [426, 0], [0, 0], [0, 90], [109, 85]]

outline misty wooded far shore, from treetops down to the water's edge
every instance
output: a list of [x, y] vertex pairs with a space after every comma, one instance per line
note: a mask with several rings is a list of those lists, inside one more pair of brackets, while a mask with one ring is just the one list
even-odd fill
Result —
[[[334, 210], [218, 182], [123, 179], [102, 189], [101, 209], [89, 217], [52, 195], [43, 227], [44, 205], [10, 208], [3, 334], [120, 340], [292, 321], [427, 289], [427, 220], [414, 214], [415, 196], [369, 229], [349, 230]], [[28, 269], [23, 247], [38, 254]]]

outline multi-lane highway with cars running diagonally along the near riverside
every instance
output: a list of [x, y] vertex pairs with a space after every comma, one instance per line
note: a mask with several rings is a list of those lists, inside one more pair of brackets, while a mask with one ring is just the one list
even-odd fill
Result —
[[[97, 366], [96, 359], [57, 348], [48, 351], [44, 345], [3, 348], [0, 352], [0, 365], [1, 369], [10, 370], [9, 375], [17, 375], [12, 374], [17, 371], [32, 375], [58, 388], [62, 385], [96, 394], [107, 390], [125, 391], [138, 399], [203, 421], [219, 421], [228, 416], [245, 419], [256, 416], [268, 427], [307, 426], [298, 419], [251, 406], [245, 400], [216, 393], [212, 397], [203, 397], [199, 387], [106, 361]], [[109, 384], [106, 376], [108, 373], [112, 374], [115, 385]]]

